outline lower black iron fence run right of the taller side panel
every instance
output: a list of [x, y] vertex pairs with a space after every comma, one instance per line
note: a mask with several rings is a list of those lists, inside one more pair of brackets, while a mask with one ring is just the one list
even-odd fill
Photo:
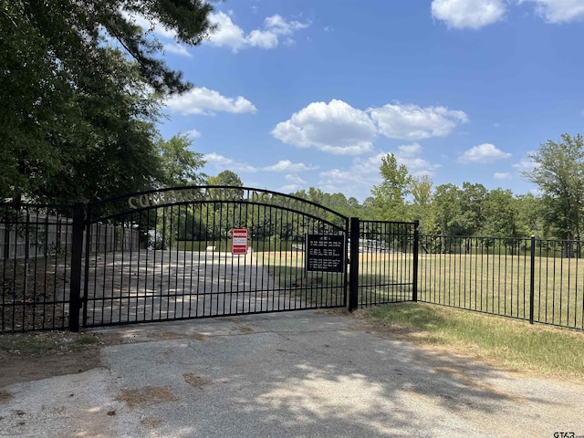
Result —
[[420, 301], [584, 328], [581, 242], [422, 235]]

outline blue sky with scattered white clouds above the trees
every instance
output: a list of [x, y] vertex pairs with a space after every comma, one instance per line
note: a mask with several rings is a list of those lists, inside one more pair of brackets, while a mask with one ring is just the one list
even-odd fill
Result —
[[584, 0], [225, 0], [165, 59], [196, 88], [160, 126], [247, 186], [361, 202], [394, 153], [412, 175], [535, 189], [548, 139], [584, 132]]

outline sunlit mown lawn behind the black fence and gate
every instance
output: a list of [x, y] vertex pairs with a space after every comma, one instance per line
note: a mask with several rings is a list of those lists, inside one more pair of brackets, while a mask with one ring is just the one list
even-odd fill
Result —
[[[282, 287], [304, 275], [301, 251], [256, 253]], [[412, 299], [411, 254], [360, 254], [360, 303]], [[418, 299], [513, 318], [529, 318], [530, 259], [505, 254], [421, 254]], [[325, 275], [339, 286], [342, 275]], [[536, 257], [534, 320], [584, 328], [584, 262], [578, 258]]]

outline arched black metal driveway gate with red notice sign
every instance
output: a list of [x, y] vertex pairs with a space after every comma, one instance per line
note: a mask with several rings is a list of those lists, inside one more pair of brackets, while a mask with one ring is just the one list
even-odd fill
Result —
[[[84, 327], [347, 306], [349, 220], [316, 203], [185, 187], [91, 203], [87, 218]], [[341, 268], [324, 248], [307, 269], [307, 235], [340, 236]]]

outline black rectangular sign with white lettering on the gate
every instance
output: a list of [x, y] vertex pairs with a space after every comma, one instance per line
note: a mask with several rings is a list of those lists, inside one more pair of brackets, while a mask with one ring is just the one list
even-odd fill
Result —
[[307, 235], [308, 272], [345, 272], [344, 235]]

